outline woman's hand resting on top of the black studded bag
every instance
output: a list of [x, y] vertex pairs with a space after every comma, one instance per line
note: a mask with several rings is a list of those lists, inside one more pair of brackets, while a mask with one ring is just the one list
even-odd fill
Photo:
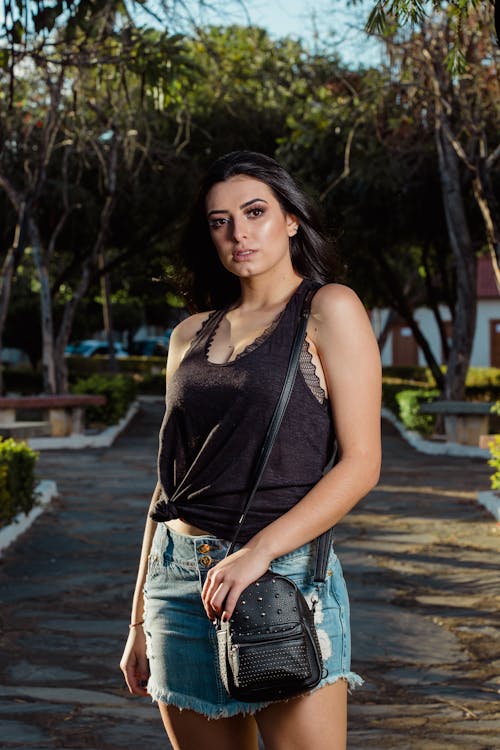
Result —
[[271, 560], [262, 550], [242, 547], [208, 571], [201, 592], [203, 606], [211, 620], [229, 620], [241, 592], [268, 570]]

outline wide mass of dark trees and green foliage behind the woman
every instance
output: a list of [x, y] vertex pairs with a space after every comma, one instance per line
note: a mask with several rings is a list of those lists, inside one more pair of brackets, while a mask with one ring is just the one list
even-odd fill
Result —
[[[257, 27], [200, 26], [185, 11], [176, 2], [145, 2], [140, 13], [115, 0], [9, 5], [0, 348], [21, 346], [41, 363], [45, 390], [66, 390], [70, 339], [175, 324], [185, 288], [176, 240], [197, 180], [218, 155], [249, 148], [297, 176], [348, 283], [367, 307], [410, 325], [440, 390], [463, 394], [471, 342], [460, 321], [475, 310], [461, 269], [468, 278], [479, 254], [500, 255], [489, 4], [466, 4], [460, 28], [451, 4], [403, 30], [386, 23], [385, 62], [373, 66], [346, 64], [328, 40], [311, 51]], [[461, 68], [450, 70], [457, 44]], [[445, 178], [465, 249], [450, 233]], [[416, 322], [421, 305], [455, 357], [445, 373]], [[443, 306], [456, 324], [451, 347]]]

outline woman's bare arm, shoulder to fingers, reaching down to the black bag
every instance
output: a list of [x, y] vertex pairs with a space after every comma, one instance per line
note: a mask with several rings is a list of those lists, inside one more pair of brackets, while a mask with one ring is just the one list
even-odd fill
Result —
[[203, 589], [210, 618], [230, 617], [241, 591], [272, 560], [335, 526], [377, 483], [381, 462], [381, 365], [366, 311], [348, 287], [315, 295], [308, 338], [320, 360], [333, 411], [339, 460], [305, 497], [212, 568]]

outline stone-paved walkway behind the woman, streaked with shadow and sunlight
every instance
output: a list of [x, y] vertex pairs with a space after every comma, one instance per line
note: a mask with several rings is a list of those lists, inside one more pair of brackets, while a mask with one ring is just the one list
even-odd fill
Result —
[[[41, 456], [61, 498], [0, 566], [2, 748], [169, 747], [118, 671], [161, 408], [144, 406], [112, 448]], [[337, 532], [366, 679], [350, 750], [500, 746], [500, 534], [473, 502], [487, 476], [386, 427], [380, 485]]]

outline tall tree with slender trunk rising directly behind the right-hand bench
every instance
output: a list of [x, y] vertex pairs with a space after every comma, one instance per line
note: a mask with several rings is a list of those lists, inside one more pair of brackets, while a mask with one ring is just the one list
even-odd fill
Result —
[[403, 71], [408, 107], [422, 128], [432, 129], [438, 157], [457, 289], [445, 381], [449, 399], [464, 397], [475, 333], [477, 247], [466, 210], [471, 181], [484, 220], [483, 237], [500, 278], [500, 216], [492, 187], [500, 160], [500, 54], [491, 43], [490, 30], [491, 13], [485, 6], [470, 12], [461, 42], [467, 67], [460, 75], [452, 73], [444, 62], [446, 50], [454, 43], [453, 26], [446, 14], [423, 23], [407, 40], [388, 41], [395, 65]]

